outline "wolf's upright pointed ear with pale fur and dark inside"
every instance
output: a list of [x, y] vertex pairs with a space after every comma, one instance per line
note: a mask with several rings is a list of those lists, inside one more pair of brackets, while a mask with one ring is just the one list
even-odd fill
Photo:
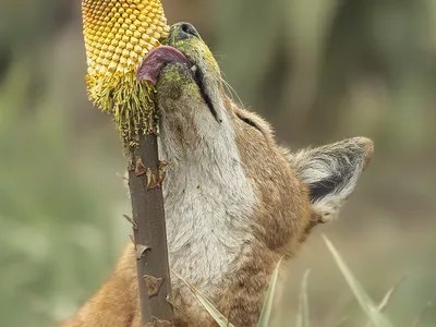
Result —
[[355, 137], [290, 155], [290, 161], [308, 186], [312, 206], [319, 216], [319, 222], [330, 221], [338, 216], [373, 150], [371, 140]]

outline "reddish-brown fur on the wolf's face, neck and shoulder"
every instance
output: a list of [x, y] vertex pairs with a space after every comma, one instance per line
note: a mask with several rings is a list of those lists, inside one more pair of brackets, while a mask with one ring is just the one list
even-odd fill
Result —
[[[185, 92], [183, 88], [180, 90]], [[173, 100], [177, 101], [178, 97]], [[312, 228], [322, 221], [322, 217], [313, 209], [308, 186], [300, 177], [298, 165], [276, 144], [269, 125], [256, 114], [238, 108], [223, 92], [222, 97], [235, 133], [241, 162], [254, 189], [257, 205], [252, 217], [253, 238], [242, 246], [234, 267], [226, 271], [227, 275], [219, 281], [218, 294], [211, 300], [235, 327], [252, 327], [257, 323], [277, 262], [282, 256], [294, 255]], [[238, 116], [250, 118], [257, 129]], [[195, 130], [190, 133], [180, 135], [178, 140], [190, 135], [195, 137]], [[358, 149], [362, 148], [358, 155], [362, 160], [367, 160], [372, 143], [363, 138], [355, 143]], [[360, 172], [356, 169], [355, 174]], [[133, 244], [129, 244], [112, 277], [63, 326], [140, 327], [136, 278]], [[217, 326], [195, 300], [179, 296], [183, 292], [186, 293], [186, 289], [174, 290], [175, 326]]]

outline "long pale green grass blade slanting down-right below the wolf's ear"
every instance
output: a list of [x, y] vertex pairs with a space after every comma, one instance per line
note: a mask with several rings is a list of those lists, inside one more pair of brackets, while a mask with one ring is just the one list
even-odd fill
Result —
[[332, 254], [336, 264], [338, 265], [340, 271], [342, 272], [343, 277], [346, 278], [349, 287], [351, 288], [352, 292], [354, 293], [355, 299], [358, 300], [359, 304], [361, 305], [362, 310], [365, 312], [367, 318], [371, 323], [376, 327], [393, 327], [393, 325], [378, 311], [377, 306], [374, 304], [373, 300], [368, 296], [365, 292], [363, 287], [360, 282], [355, 279], [352, 275], [351, 270], [348, 268], [341, 256], [339, 255], [338, 251], [335, 249], [334, 244], [327, 239], [326, 235], [323, 235], [324, 241], [327, 244], [328, 250]]

